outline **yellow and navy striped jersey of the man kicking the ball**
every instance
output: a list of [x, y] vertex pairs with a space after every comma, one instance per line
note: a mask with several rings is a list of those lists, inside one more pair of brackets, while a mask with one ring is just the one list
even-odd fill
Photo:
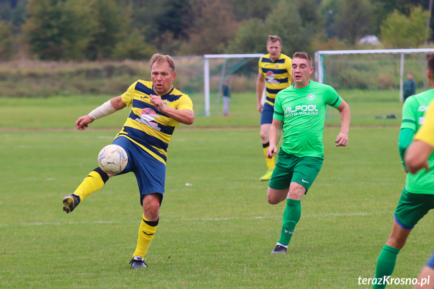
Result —
[[[131, 112], [116, 138], [128, 138], [165, 164], [167, 147], [180, 123], [160, 113], [151, 103], [150, 94], [158, 95], [153, 89], [152, 82], [143, 80], [137, 80], [122, 94], [122, 101], [128, 107], [131, 106]], [[160, 97], [164, 106], [193, 111], [193, 103], [189, 96], [173, 86]]]

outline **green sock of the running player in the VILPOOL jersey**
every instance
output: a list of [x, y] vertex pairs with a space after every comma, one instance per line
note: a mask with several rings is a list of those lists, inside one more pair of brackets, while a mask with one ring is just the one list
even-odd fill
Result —
[[300, 220], [301, 203], [300, 200], [287, 199], [286, 208], [283, 212], [282, 233], [280, 234], [279, 243], [288, 245], [294, 234], [295, 225]]

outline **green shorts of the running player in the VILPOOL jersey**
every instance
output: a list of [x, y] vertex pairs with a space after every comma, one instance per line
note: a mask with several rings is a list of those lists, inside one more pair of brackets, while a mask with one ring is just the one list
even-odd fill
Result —
[[281, 149], [269, 186], [274, 189], [286, 189], [294, 181], [304, 186], [307, 192], [318, 175], [323, 160], [322, 157], [297, 157]]

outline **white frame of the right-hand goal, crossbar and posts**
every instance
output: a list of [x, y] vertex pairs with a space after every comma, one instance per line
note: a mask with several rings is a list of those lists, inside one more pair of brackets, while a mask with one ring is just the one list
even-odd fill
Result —
[[403, 101], [403, 75], [404, 75], [404, 55], [412, 53], [434, 52], [434, 48], [421, 49], [367, 49], [367, 50], [322, 50], [315, 52], [315, 78], [318, 82], [324, 83], [324, 55], [345, 55], [345, 54], [400, 54], [400, 80], [399, 80], [399, 101]]

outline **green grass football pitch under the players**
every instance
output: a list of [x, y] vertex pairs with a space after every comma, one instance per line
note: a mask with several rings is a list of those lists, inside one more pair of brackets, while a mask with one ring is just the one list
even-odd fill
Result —
[[[71, 214], [61, 209], [63, 196], [97, 166], [99, 150], [125, 116], [94, 126], [109, 129], [79, 132], [71, 123], [103, 99], [84, 108], [71, 99], [27, 101], [0, 99], [0, 287], [372, 287], [359, 277], [374, 276], [405, 184], [399, 120], [353, 127], [346, 148], [334, 147], [338, 129], [325, 129], [322, 170], [303, 197], [288, 253], [278, 256], [270, 252], [285, 204], [268, 204], [268, 183], [258, 180], [266, 170], [258, 128], [245, 128], [249, 120], [238, 129], [181, 127], [168, 150], [160, 222], [145, 258], [149, 268], [131, 270], [142, 214], [133, 174], [111, 178]], [[235, 110], [234, 103], [234, 118], [248, 119], [247, 109]], [[384, 114], [398, 114], [398, 105], [387, 105]], [[359, 111], [353, 107], [354, 117]], [[198, 117], [196, 127], [230, 119]], [[431, 214], [410, 234], [393, 277], [416, 277], [431, 255]]]

